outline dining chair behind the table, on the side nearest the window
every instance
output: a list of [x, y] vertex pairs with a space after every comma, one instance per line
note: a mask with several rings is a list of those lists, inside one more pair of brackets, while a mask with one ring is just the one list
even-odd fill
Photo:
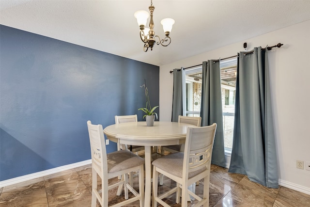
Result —
[[[178, 119], [179, 123], [185, 123], [185, 124], [191, 124], [195, 125], [196, 127], [200, 127], [202, 124], [202, 117], [192, 117], [192, 116], [181, 116], [179, 115]], [[165, 151], [174, 153], [174, 152], [180, 152], [184, 151], [184, 144], [177, 144], [177, 145], [168, 145], [168, 146], [161, 146], [160, 147], [160, 153], [162, 155], [165, 154]]]

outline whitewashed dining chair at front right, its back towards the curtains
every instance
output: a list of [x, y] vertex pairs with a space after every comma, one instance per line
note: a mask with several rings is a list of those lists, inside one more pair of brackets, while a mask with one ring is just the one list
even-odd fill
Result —
[[[216, 129], [216, 123], [206, 127], [188, 127], [184, 152], [171, 153], [152, 162], [153, 207], [157, 206], [157, 202], [169, 207], [163, 199], [172, 193], [176, 193], [176, 203], [179, 204], [181, 189], [181, 207], [187, 207], [189, 195], [198, 200], [194, 207], [209, 206], [210, 168]], [[176, 187], [158, 195], [158, 173], [176, 181]], [[188, 190], [190, 185], [201, 179], [204, 181], [203, 197]]]

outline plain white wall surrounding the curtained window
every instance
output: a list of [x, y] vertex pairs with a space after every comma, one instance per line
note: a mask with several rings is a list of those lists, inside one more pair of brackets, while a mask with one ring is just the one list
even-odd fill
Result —
[[296, 169], [296, 160], [310, 162], [310, 20], [160, 66], [160, 120], [171, 121], [173, 75], [170, 70], [236, 55], [244, 51], [244, 42], [248, 43], [248, 50], [284, 44], [268, 51], [279, 184], [310, 194], [310, 171]]

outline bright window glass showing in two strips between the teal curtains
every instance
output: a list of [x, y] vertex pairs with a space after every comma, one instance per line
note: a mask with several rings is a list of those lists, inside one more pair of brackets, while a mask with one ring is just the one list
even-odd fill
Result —
[[[237, 59], [220, 62], [223, 130], [225, 151], [233, 147], [234, 102], [236, 90]], [[202, 96], [202, 66], [185, 70], [186, 116], [200, 116]]]

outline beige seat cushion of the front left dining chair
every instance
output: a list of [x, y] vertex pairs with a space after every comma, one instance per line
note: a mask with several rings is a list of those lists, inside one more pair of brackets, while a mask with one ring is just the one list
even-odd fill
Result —
[[108, 173], [114, 173], [121, 170], [144, 164], [144, 159], [128, 151], [120, 150], [107, 154]]

